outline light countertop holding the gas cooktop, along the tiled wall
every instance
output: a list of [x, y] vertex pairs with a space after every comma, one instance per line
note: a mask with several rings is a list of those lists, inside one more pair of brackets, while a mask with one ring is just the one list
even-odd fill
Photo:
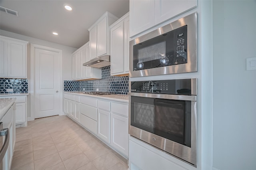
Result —
[[67, 93], [67, 94], [70, 94], [70, 95], [96, 97], [98, 99], [105, 99], [105, 100], [112, 100], [112, 101], [129, 103], [129, 96], [128, 95], [88, 95], [88, 94], [84, 94], [82, 91], [64, 91], [64, 93]]

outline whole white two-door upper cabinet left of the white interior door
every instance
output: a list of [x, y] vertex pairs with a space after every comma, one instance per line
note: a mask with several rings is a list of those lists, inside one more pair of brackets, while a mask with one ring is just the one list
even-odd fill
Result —
[[0, 36], [0, 77], [27, 78], [27, 43]]

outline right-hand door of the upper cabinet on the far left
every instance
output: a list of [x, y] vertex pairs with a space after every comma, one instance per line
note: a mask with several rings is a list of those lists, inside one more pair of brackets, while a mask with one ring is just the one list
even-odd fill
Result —
[[26, 78], [26, 44], [8, 40], [8, 77]]

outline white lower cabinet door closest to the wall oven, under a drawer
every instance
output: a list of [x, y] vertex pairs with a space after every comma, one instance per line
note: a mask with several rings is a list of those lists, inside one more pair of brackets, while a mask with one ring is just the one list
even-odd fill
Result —
[[128, 157], [128, 118], [111, 113], [110, 145]]

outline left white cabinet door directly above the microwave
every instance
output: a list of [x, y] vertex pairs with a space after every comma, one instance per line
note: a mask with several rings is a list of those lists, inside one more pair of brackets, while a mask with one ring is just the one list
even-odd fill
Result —
[[130, 0], [130, 37], [154, 26], [154, 0]]

